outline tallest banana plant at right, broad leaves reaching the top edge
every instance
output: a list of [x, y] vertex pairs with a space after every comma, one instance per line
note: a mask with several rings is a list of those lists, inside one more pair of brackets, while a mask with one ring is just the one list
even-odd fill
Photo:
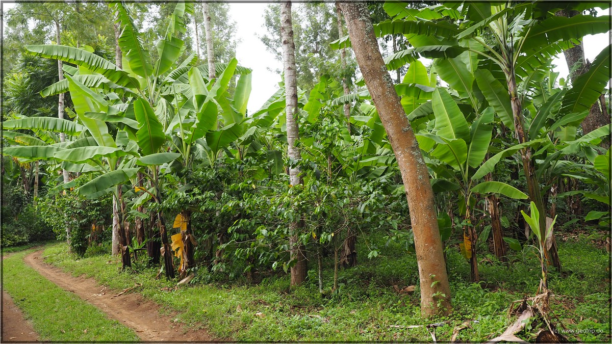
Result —
[[[564, 6], [573, 9], [582, 5], [573, 3]], [[479, 83], [480, 91], [485, 97], [487, 94], [504, 96], [504, 107], [496, 109], [496, 113], [507, 127], [514, 130], [518, 143], [525, 144], [520, 149], [520, 154], [528, 181], [529, 198], [544, 214], [546, 209], [532, 162], [534, 151], [529, 144], [526, 144], [529, 139], [526, 135], [527, 127], [523, 113], [527, 105], [524, 99], [528, 96], [532, 85], [541, 80], [545, 71], [545, 61], [559, 51], [572, 47], [586, 34], [608, 31], [610, 17], [589, 15], [577, 15], [572, 18], [555, 17], [556, 9], [542, 2], [518, 4], [447, 2], [442, 6], [426, 7], [418, 13], [405, 10], [405, 4], [402, 3], [387, 4], [385, 8], [387, 13], [395, 17], [389, 23], [381, 23], [379, 30], [381, 34], [405, 34], [413, 47], [411, 51], [405, 53], [406, 56], [413, 59], [412, 55], [419, 53], [420, 50], [436, 51], [439, 55], [446, 55], [437, 56], [442, 60], [439, 63], [452, 64], [454, 51], [463, 49], [470, 54], [464, 61], [468, 71], [470, 65], [478, 65], [480, 69], [488, 69], [493, 80], [500, 81], [499, 86], [502, 88], [498, 88], [496, 83], [482, 85]], [[402, 8], [404, 10], [401, 10]], [[431, 19], [422, 20], [422, 16]], [[439, 18], [452, 20], [458, 17], [464, 18], [460, 25], [450, 24], [449, 21], [438, 21]], [[493, 40], [483, 39], [484, 34]], [[408, 59], [401, 61], [409, 62]], [[602, 66], [600, 69], [603, 70], [605, 67]], [[442, 74], [441, 77], [444, 79]], [[451, 86], [457, 88], [458, 95], [467, 95], [473, 106], [478, 95], [470, 94], [468, 91], [469, 73], [457, 69], [447, 77], [452, 79], [449, 84], [454, 83]], [[522, 81], [517, 82], [518, 80]], [[592, 96], [601, 94], [603, 90], [599, 80], [597, 82], [585, 80], [584, 84], [589, 86], [584, 87], [583, 84], [577, 86], [579, 89], [590, 91], [573, 92], [573, 95], [564, 97], [562, 102], [566, 103], [564, 105], [566, 113], [575, 113], [581, 107], [590, 106], [587, 103], [592, 103]], [[504, 94], [505, 89], [507, 92]], [[581, 93], [588, 95], [587, 99], [579, 100], [577, 96]], [[581, 105], [578, 106], [577, 103]], [[540, 221], [542, 229], [545, 223], [543, 218]], [[547, 255], [551, 255], [553, 265], [560, 269], [561, 263], [556, 255], [556, 247], [553, 247], [551, 252], [547, 252]]]

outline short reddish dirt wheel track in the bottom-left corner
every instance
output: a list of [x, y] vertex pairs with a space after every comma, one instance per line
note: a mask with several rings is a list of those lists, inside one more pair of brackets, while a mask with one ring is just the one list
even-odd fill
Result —
[[[5, 255], [2, 259], [9, 255]], [[23, 318], [23, 313], [9, 293], [4, 291], [2, 288], [2, 337], [0, 342], [37, 342], [39, 340], [38, 334], [34, 332], [32, 324]]]

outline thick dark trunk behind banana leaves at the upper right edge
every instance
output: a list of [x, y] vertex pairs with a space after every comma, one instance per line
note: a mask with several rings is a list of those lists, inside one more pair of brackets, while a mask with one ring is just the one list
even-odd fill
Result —
[[[580, 12], [578, 12], [577, 10], [559, 10], [555, 13], [555, 15], [557, 15], [558, 17], [567, 18], [573, 17], [578, 14], [580, 14]], [[563, 54], [565, 55], [565, 62], [567, 62], [567, 69], [570, 72], [570, 80], [574, 81], [577, 77], [580, 77], [580, 75], [583, 75], [584, 73], [589, 71], [589, 67], [591, 66], [591, 64], [584, 59], [584, 47], [582, 45], [582, 42], [580, 42], [580, 44], [578, 45], [575, 45], [575, 47], [573, 48], [565, 50]], [[587, 134], [597, 128], [603, 127], [603, 125], [606, 124], [610, 124], [610, 115], [606, 110], [605, 98], [602, 95], [599, 99], [599, 102], [595, 102], [591, 106], [591, 110], [589, 110], [588, 116], [584, 118], [584, 121], [581, 125], [584, 134]], [[604, 140], [602, 140], [602, 143], [600, 143], [600, 145], [605, 149], [610, 148], [610, 139], [605, 138]]]

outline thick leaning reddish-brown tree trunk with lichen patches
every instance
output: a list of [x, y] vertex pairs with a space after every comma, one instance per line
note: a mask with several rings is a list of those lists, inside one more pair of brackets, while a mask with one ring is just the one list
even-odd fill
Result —
[[345, 15], [359, 69], [395, 152], [406, 189], [419, 265], [421, 314], [447, 315], [451, 308], [449, 279], [429, 172], [419, 143], [385, 67], [367, 6], [363, 2], [337, 3]]

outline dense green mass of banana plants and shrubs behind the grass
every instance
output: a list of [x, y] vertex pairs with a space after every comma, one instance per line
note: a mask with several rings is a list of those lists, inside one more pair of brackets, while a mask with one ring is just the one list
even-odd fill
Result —
[[[505, 280], [499, 269], [511, 267], [504, 263], [524, 263], [534, 252], [534, 279], [541, 267], [545, 286], [548, 272], [550, 287], [563, 288], [561, 262], [573, 258], [558, 250], [559, 234], [580, 229], [610, 244], [610, 125], [581, 128], [592, 106], [610, 120], [602, 96], [610, 47], [570, 81], [551, 61], [586, 34], [607, 32], [610, 16], [558, 17], [548, 2], [424, 6], [389, 2], [370, 10], [376, 35], [392, 45], [385, 63], [397, 71], [405, 129], [415, 133], [430, 173], [449, 275]], [[98, 9], [95, 18], [87, 14]], [[51, 18], [27, 18], [23, 10]], [[351, 284], [384, 275], [370, 271], [379, 268], [371, 262], [414, 256], [417, 219], [350, 54], [341, 67], [337, 50], [351, 42], [338, 33], [334, 6], [304, 4], [295, 15], [300, 159], [287, 152], [284, 85], [247, 111], [252, 70], [234, 58], [228, 7], [214, 10], [220, 62], [212, 79], [205, 56], [192, 51], [190, 24], [203, 20], [193, 3], [19, 4], [9, 11], [15, 17], [6, 44], [15, 62], [7, 64], [2, 99], [2, 247], [54, 233], [83, 256], [114, 240], [124, 268], [280, 288], [285, 282], [275, 281], [296, 264], [288, 243], [299, 222], [309, 264], [304, 288], [318, 284], [325, 297], [359, 299], [367, 293]], [[275, 53], [279, 16], [271, 4], [269, 36], [261, 37]], [[154, 24], [140, 30], [146, 20]], [[56, 24], [64, 44], [47, 44], [53, 37], [43, 31]], [[106, 32], [113, 24], [118, 30]], [[116, 47], [122, 59], [113, 61]], [[62, 78], [56, 59], [64, 62]], [[67, 119], [56, 117], [63, 93]], [[303, 184], [289, 184], [293, 166]], [[389, 272], [384, 283], [400, 273]], [[452, 283], [459, 298], [485, 293]]]

